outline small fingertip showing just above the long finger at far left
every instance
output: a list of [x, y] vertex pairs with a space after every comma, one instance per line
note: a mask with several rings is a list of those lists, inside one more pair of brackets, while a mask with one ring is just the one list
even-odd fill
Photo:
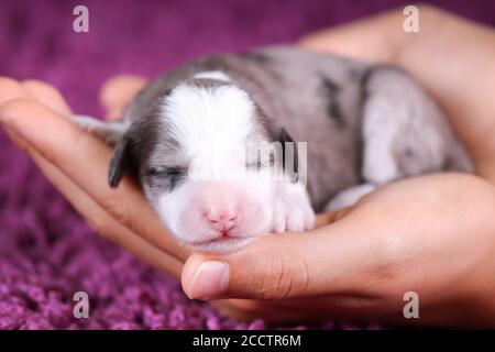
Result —
[[69, 117], [72, 114], [70, 108], [65, 102], [61, 92], [53, 86], [41, 81], [29, 79], [22, 81], [21, 86], [28, 91], [33, 98], [47, 106], [54, 111], [59, 112], [62, 116]]

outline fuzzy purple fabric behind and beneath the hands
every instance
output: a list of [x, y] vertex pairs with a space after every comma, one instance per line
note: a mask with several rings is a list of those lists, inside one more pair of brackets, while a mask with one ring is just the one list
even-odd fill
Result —
[[[290, 42], [310, 31], [404, 1], [1, 1], [0, 75], [37, 78], [73, 109], [101, 114], [101, 84], [118, 74], [151, 77], [200, 54]], [[437, 1], [495, 24], [493, 1]], [[76, 4], [90, 32], [72, 29]], [[75, 292], [90, 319], [73, 317]], [[100, 239], [0, 132], [0, 329], [349, 328], [238, 322], [190, 301], [174, 279]], [[361, 326], [362, 327], [362, 326]]]

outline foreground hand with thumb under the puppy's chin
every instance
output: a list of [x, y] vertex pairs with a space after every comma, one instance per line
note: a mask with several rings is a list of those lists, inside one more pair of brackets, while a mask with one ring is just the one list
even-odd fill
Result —
[[[443, 327], [495, 321], [495, 188], [472, 175], [391, 184], [307, 233], [256, 239], [227, 255], [193, 254], [190, 298], [234, 300], [231, 314]], [[420, 319], [403, 299], [419, 296]]]

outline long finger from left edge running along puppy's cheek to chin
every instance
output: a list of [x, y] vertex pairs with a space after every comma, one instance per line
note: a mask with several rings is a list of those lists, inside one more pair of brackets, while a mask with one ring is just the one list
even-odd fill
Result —
[[12, 100], [1, 107], [0, 114], [3, 123], [22, 135], [121, 224], [173, 255], [187, 255], [132, 182], [124, 179], [117, 190], [108, 187], [109, 146], [33, 100]]

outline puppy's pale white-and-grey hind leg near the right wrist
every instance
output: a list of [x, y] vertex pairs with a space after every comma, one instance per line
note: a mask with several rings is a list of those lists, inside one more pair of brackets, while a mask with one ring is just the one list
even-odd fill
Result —
[[[363, 170], [366, 182], [386, 184], [442, 168], [441, 112], [404, 74], [375, 74], [363, 111]], [[406, 151], [409, 153], [406, 154]]]

